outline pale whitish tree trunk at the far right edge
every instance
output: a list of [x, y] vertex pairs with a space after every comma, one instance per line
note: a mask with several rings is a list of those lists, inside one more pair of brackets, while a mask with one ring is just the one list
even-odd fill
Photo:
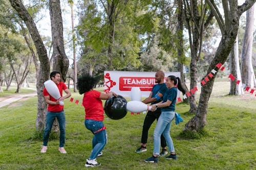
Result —
[[252, 43], [253, 43], [253, 23], [254, 6], [246, 11], [246, 27], [243, 40], [243, 50], [241, 59], [242, 82], [250, 88], [256, 87], [256, 79], [252, 67]]

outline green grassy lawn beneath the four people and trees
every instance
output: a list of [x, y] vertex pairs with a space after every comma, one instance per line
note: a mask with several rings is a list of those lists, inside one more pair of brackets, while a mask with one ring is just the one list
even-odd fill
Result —
[[[147, 152], [140, 146], [143, 120], [146, 114], [127, 115], [120, 120], [105, 116], [108, 143], [98, 157], [94, 169], [256, 169], [256, 96], [228, 96], [229, 82], [216, 82], [209, 100], [207, 125], [209, 136], [200, 139], [180, 137], [185, 123], [193, 117], [189, 105], [179, 103], [176, 111], [184, 122], [172, 124], [170, 134], [178, 160], [160, 157], [159, 163], [142, 160], [153, 154], [152, 125]], [[1, 94], [1, 93], [0, 93]], [[198, 95], [200, 94], [200, 91]], [[249, 95], [249, 97], [248, 97]], [[84, 166], [91, 153], [93, 134], [84, 127], [82, 95], [72, 93], [79, 104], [65, 101], [67, 154], [58, 152], [58, 139], [50, 140], [47, 153], [41, 154], [41, 140], [32, 140], [35, 132], [37, 98], [19, 101], [22, 106], [0, 108], [0, 169], [87, 169]], [[92, 168], [92, 167], [91, 167]], [[89, 169], [89, 168], [88, 168]]]

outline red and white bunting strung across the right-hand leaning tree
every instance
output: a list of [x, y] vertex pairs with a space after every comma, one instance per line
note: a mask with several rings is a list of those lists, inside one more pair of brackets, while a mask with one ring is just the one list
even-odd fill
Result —
[[[216, 64], [215, 68], [219, 68], [221, 71], [223, 71], [225, 69], [225, 67], [222, 65], [222, 63], [218, 63]], [[214, 77], [214, 75], [216, 74], [217, 70], [212, 69], [211, 72], [203, 78], [203, 80], [201, 81], [201, 84], [204, 86], [207, 84], [208, 81], [210, 81], [210, 79], [212, 77]], [[235, 76], [233, 76], [232, 74], [229, 74], [228, 78], [230, 78], [231, 81], [235, 81], [237, 78]], [[241, 80], [237, 80], [236, 81], [236, 84], [239, 85], [241, 83]], [[198, 87], [202, 87], [201, 84], [198, 85]], [[249, 86], [246, 86], [245, 84], [242, 85], [243, 89], [245, 89], [245, 91], [249, 91], [250, 90], [250, 93], [253, 94], [254, 92], [254, 89], [250, 89]], [[195, 91], [198, 91], [198, 88], [197, 87], [194, 87], [194, 89], [190, 89], [188, 92], [186, 92], [186, 94], [183, 95], [183, 100], [184, 99], [187, 99], [191, 94], [194, 94]], [[255, 96], [256, 96], [256, 93], [255, 93]], [[177, 98], [178, 99], [178, 102], [182, 102], [181, 98]]]

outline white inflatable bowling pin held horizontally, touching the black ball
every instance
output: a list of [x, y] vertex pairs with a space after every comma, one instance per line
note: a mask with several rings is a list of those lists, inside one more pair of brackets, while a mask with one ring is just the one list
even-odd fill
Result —
[[126, 104], [126, 110], [135, 112], [135, 113], [139, 113], [139, 112], [143, 112], [151, 109], [152, 109], [152, 106], [146, 105], [140, 101], [130, 101], [130, 102], [127, 102]]

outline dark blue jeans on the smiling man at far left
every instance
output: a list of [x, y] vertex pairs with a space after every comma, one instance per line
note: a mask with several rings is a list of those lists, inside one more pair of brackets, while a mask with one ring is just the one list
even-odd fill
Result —
[[64, 147], [65, 144], [65, 137], [66, 137], [66, 118], [65, 118], [65, 113], [64, 110], [60, 112], [50, 112], [47, 111], [46, 115], [46, 128], [44, 131], [44, 136], [43, 136], [43, 144], [44, 146], [47, 146], [50, 132], [52, 129], [53, 122], [55, 120], [55, 117], [57, 117], [58, 123], [59, 123], [59, 147]]

